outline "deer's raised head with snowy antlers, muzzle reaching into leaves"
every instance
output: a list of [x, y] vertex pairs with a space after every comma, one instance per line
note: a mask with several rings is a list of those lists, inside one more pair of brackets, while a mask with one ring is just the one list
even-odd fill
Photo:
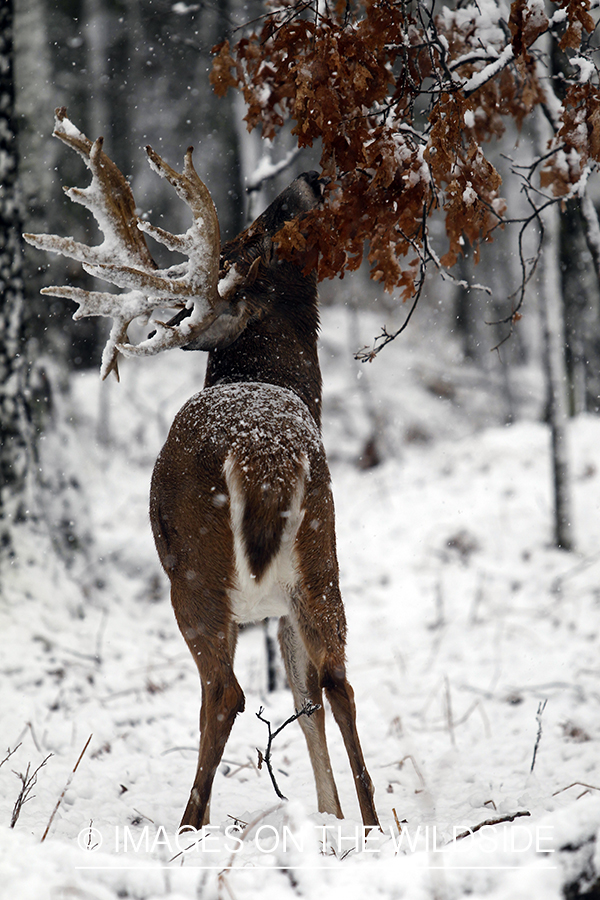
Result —
[[[192, 214], [192, 224], [185, 234], [174, 235], [140, 219], [131, 188], [104, 152], [103, 139], [90, 141], [68, 119], [64, 107], [56, 110], [53, 134], [74, 149], [92, 173], [87, 188], [65, 191], [71, 200], [92, 212], [104, 239], [101, 244], [89, 247], [72, 237], [49, 234], [24, 237], [40, 250], [81, 262], [90, 275], [122, 289], [119, 294], [85, 291], [68, 285], [42, 290], [43, 294], [78, 303], [74, 319], [85, 316], [113, 319], [102, 357], [103, 379], [110, 372], [118, 378], [120, 353], [147, 356], [173, 347], [195, 350], [226, 347], [249, 321], [264, 315], [269, 290], [266, 269], [273, 257], [273, 236], [286, 221], [319, 204], [322, 184], [316, 172], [296, 179], [237, 239], [239, 245], [243, 238], [243, 252], [229, 255], [225, 252], [221, 264], [219, 221], [210, 193], [194, 169], [193, 148], [188, 148], [180, 173], [151, 147], [146, 147], [151, 167], [174, 187]], [[182, 253], [187, 261], [159, 269], [144, 235]], [[163, 321], [165, 309], [180, 312]], [[133, 344], [128, 328], [138, 317], [149, 318], [153, 330], [146, 340]]]

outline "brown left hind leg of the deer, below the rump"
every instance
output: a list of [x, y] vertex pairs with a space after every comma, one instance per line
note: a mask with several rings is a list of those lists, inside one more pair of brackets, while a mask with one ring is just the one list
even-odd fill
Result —
[[209, 630], [205, 623], [192, 624], [187, 615], [179, 613], [182, 604], [175, 586], [172, 596], [179, 627], [202, 684], [198, 766], [181, 826], [201, 828], [209, 821], [212, 784], [225, 744], [235, 717], [244, 709], [244, 693], [233, 671], [237, 625], [221, 623], [216, 630]]

